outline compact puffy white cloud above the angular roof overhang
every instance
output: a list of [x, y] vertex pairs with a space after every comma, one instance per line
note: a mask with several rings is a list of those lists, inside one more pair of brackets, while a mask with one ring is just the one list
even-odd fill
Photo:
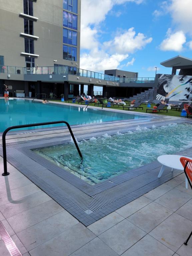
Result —
[[183, 31], [171, 32], [169, 28], [167, 31], [167, 38], [160, 44], [162, 51], [181, 51], [183, 44], [186, 42], [186, 37]]

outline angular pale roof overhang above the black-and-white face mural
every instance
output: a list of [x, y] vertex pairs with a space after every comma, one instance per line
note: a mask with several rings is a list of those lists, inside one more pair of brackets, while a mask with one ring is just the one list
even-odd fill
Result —
[[169, 60], [163, 61], [160, 63], [162, 66], [167, 67], [167, 68], [172, 68], [172, 67], [182, 67], [182, 66], [191, 66], [192, 65], [192, 59], [182, 57], [180, 55], [171, 58]]

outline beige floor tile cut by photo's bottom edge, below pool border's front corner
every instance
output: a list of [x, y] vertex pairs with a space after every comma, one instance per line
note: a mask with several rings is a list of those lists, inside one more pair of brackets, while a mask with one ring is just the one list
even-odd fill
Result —
[[81, 223], [78, 223], [60, 235], [31, 250], [29, 253], [31, 256], [68, 256], [93, 238], [95, 238], [95, 234]]

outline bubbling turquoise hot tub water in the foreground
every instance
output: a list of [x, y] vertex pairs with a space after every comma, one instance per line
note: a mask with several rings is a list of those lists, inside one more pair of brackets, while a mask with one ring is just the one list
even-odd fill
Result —
[[192, 147], [191, 133], [192, 125], [184, 123], [153, 129], [137, 127], [134, 132], [93, 137], [79, 143], [82, 164], [73, 143], [33, 151], [94, 185], [150, 163], [160, 155]]

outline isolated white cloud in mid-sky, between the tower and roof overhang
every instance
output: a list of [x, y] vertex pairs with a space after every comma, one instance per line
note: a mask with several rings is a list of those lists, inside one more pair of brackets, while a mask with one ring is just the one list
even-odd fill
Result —
[[126, 32], [116, 36], [113, 40], [104, 42], [106, 48], [110, 48], [112, 52], [133, 53], [136, 50], [141, 50], [146, 44], [151, 43], [152, 37], [146, 38], [142, 33], [134, 31], [134, 28], [129, 28]]

